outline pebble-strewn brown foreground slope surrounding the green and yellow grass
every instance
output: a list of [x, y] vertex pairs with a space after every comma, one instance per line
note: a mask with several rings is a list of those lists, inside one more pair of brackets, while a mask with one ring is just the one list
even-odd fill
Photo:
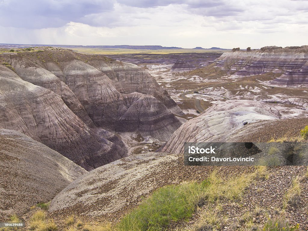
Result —
[[[180, 155], [165, 153], [146, 153], [117, 160], [97, 168], [75, 180], [63, 189], [52, 201], [49, 216], [59, 221], [75, 214], [87, 220], [119, 221], [121, 217], [132, 211], [154, 190], [169, 184], [181, 184], [185, 181], [201, 182], [217, 171], [219, 179], [232, 179], [241, 174], [254, 172], [255, 167], [210, 167], [184, 166]], [[241, 217], [254, 214], [253, 226], [262, 227], [267, 216], [279, 217], [284, 213], [290, 224], [300, 224], [300, 230], [306, 230], [307, 213], [304, 205], [308, 202], [306, 167], [289, 166], [267, 168], [264, 176], [253, 180], [243, 193], [243, 197], [235, 201], [221, 200], [206, 203], [198, 209], [190, 222], [178, 223], [178, 228], [193, 228], [200, 214], [211, 206], [221, 206], [215, 214], [225, 230], [251, 230], [247, 228]], [[291, 182], [299, 176], [302, 181], [301, 197], [296, 205], [291, 205], [285, 212], [283, 200], [291, 187]], [[217, 204], [218, 203], [218, 204]], [[253, 219], [253, 217], [249, 218]], [[246, 228], [246, 229], [245, 229]], [[178, 229], [170, 229], [178, 230]], [[192, 229], [199, 230], [199, 229]]]

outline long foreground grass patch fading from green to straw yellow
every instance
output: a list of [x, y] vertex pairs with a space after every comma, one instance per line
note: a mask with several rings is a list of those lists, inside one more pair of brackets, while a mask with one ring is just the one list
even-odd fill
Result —
[[[197, 208], [208, 201], [240, 199], [245, 188], [253, 179], [263, 177], [266, 168], [256, 168], [251, 174], [242, 174], [223, 180], [217, 172], [212, 172], [208, 179], [198, 184], [195, 182], [181, 185], [169, 185], [158, 189], [139, 207], [126, 215], [117, 225], [119, 231], [158, 231], [168, 230], [172, 223], [188, 221]], [[219, 209], [218, 207], [215, 211]], [[214, 210], [204, 213], [203, 222], [219, 226], [220, 219]], [[213, 214], [212, 214], [213, 213]]]

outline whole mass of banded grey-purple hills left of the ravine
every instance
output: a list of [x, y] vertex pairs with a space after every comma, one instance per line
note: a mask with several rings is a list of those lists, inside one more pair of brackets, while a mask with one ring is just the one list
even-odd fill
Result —
[[1, 57], [9, 68], [0, 65], [0, 128], [20, 131], [87, 170], [127, 155], [112, 132], [168, 140], [182, 124], [174, 115], [180, 108], [136, 65], [69, 50]]

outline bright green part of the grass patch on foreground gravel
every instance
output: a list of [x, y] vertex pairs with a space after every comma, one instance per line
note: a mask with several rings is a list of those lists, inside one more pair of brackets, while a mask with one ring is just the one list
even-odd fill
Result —
[[185, 183], [160, 188], [119, 223], [119, 230], [164, 230], [171, 222], [188, 220], [197, 206], [198, 195], [208, 187]]

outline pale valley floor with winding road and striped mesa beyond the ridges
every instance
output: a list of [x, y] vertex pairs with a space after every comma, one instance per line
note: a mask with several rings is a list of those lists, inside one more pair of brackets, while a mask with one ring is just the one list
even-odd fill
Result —
[[[280, 84], [280, 80], [275, 81], [279, 76], [288, 78], [285, 77], [284, 71], [289, 69], [303, 73], [301, 69], [305, 68], [307, 60], [298, 57], [301, 55], [292, 57], [292, 54], [298, 52], [294, 49], [285, 48], [285, 51], [281, 51], [283, 57], [279, 53], [277, 55], [273, 53], [268, 63], [263, 60], [266, 53], [262, 55], [259, 51], [238, 51], [223, 55], [217, 50], [216, 53], [107, 56], [134, 63], [151, 73], [157, 83], [168, 91], [172, 99], [185, 112], [185, 119], [196, 117], [198, 112], [204, 111], [215, 103], [235, 99], [265, 102], [279, 107], [286, 118], [300, 118], [308, 115], [306, 80], [301, 82], [290, 77], [291, 84], [288, 84], [287, 88]], [[297, 49], [306, 52], [307, 48], [298, 47]], [[278, 52], [278, 50], [273, 51]], [[287, 54], [289, 59], [285, 59]], [[258, 60], [258, 56], [262, 57], [259, 58], [261, 61]], [[177, 66], [177, 70], [174, 65], [179, 60], [182, 63], [180, 63], [181, 67]], [[301, 64], [294, 66], [294, 62]], [[190, 66], [187, 68], [187, 65]], [[249, 71], [244, 72], [246, 69]]]

